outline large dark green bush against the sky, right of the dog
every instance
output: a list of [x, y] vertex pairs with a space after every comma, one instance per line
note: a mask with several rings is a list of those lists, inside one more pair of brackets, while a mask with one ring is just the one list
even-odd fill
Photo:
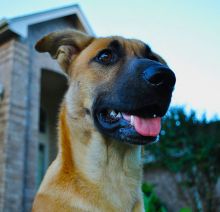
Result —
[[220, 175], [220, 121], [198, 120], [196, 113], [172, 108], [164, 118], [160, 142], [146, 147], [156, 164], [182, 176], [198, 211], [213, 211]]

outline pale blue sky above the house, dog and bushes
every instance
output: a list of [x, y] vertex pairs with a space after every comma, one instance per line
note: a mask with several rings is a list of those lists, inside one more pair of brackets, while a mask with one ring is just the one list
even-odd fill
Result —
[[97, 36], [141, 39], [167, 61], [172, 105], [220, 118], [220, 1], [0, 0], [0, 19], [76, 3]]

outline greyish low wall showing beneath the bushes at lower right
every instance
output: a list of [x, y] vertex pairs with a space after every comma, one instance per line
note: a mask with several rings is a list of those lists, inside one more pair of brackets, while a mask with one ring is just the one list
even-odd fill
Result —
[[[174, 174], [168, 169], [145, 165], [144, 182], [154, 185], [154, 191], [165, 204], [169, 212], [179, 212], [181, 208], [196, 210], [192, 200], [192, 191], [181, 186], [181, 175]], [[216, 184], [215, 211], [220, 211], [220, 179]]]

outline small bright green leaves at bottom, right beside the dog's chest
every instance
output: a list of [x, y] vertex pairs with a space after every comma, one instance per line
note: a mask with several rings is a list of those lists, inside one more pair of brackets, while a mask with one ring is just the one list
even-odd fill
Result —
[[159, 197], [153, 190], [153, 186], [147, 183], [142, 185], [144, 193], [145, 212], [167, 212]]

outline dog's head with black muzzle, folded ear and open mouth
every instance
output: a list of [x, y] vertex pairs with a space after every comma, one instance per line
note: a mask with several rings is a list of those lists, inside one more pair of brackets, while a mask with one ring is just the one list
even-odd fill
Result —
[[157, 140], [176, 79], [148, 45], [69, 30], [47, 35], [36, 49], [49, 52], [68, 75], [66, 101], [76, 127], [95, 124], [103, 136], [129, 144]]

